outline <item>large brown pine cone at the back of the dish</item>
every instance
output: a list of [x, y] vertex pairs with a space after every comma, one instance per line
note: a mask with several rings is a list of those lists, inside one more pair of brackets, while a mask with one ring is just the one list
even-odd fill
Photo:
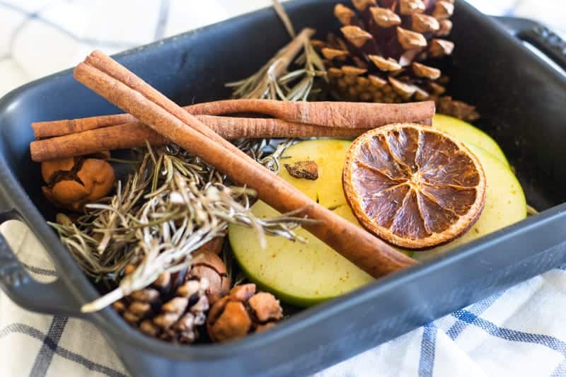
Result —
[[[454, 0], [352, 0], [337, 4], [342, 37], [314, 42], [340, 98], [400, 103], [436, 99], [446, 90], [440, 69], [424, 61], [451, 54], [445, 40]], [[442, 79], [441, 79], [442, 78]]]

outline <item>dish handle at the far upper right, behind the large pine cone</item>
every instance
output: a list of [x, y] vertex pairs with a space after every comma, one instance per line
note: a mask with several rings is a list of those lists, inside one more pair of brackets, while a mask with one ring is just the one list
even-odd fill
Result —
[[496, 17], [519, 40], [538, 48], [566, 70], [566, 41], [549, 28], [527, 18]]

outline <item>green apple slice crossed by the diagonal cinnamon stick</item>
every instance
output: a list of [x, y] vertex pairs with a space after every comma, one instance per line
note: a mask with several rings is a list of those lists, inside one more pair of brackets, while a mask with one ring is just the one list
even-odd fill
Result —
[[[293, 178], [283, 167], [279, 175], [311, 199], [358, 224], [342, 190], [342, 168], [349, 146], [350, 141], [343, 140], [302, 141], [287, 149], [281, 163], [315, 161], [318, 179]], [[256, 202], [252, 211], [262, 218], [279, 214], [264, 202]], [[287, 303], [310, 306], [373, 281], [311, 233], [302, 228], [297, 233], [307, 243], [267, 237], [265, 249], [260, 248], [250, 228], [231, 225], [228, 234], [236, 260], [248, 278]]]

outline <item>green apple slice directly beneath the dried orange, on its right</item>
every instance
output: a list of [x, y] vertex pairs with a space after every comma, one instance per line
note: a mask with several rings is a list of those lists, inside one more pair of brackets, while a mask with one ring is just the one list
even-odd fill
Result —
[[432, 250], [415, 252], [412, 257], [428, 260], [468, 243], [471, 240], [495, 232], [526, 218], [526, 199], [523, 188], [515, 175], [498, 158], [478, 146], [468, 145], [478, 156], [485, 172], [487, 189], [485, 207], [478, 221], [460, 238]]

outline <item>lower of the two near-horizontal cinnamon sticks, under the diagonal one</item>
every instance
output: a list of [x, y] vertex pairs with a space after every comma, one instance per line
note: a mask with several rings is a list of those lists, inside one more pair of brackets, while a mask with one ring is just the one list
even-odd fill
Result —
[[[357, 128], [320, 127], [272, 118], [235, 118], [212, 115], [195, 115], [195, 117], [224, 139], [356, 137], [367, 131], [367, 129]], [[138, 148], [146, 146], [146, 142], [152, 146], [161, 146], [170, 141], [151, 127], [140, 122], [132, 122], [32, 141], [30, 152], [33, 161], [43, 162], [101, 151]]]

